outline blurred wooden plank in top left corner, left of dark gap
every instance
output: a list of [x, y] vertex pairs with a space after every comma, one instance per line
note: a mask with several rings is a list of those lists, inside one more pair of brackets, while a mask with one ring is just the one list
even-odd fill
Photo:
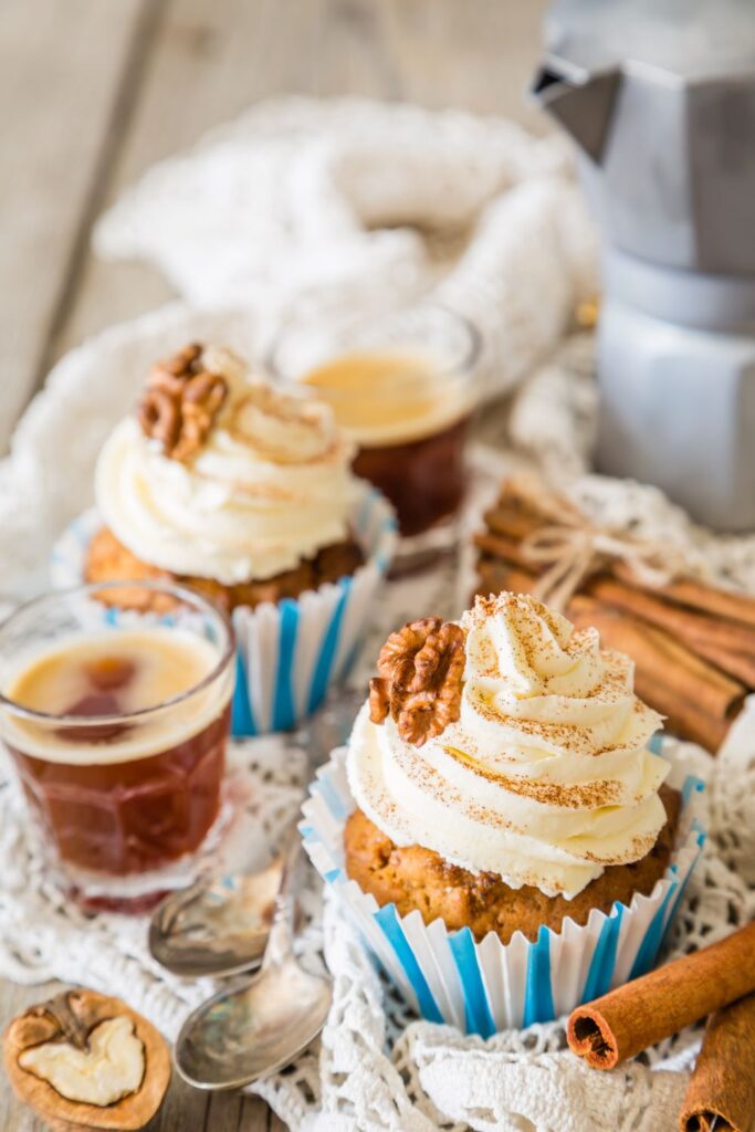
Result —
[[98, 196], [121, 78], [148, 0], [0, 5], [0, 451], [48, 341]]

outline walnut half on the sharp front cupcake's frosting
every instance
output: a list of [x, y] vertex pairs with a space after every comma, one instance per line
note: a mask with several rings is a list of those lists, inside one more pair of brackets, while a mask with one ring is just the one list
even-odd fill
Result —
[[380, 650], [379, 676], [370, 680], [370, 719], [395, 720], [405, 743], [421, 747], [460, 715], [464, 631], [426, 617], [392, 633]]

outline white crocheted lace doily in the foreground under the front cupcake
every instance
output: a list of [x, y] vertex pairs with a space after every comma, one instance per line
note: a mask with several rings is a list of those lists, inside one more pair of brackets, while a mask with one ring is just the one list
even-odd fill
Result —
[[[406, 593], [403, 594], [404, 599]], [[690, 883], [671, 954], [710, 944], [755, 915], [755, 743], [743, 720], [715, 763], [683, 753], [709, 781], [712, 838]], [[248, 831], [261, 864], [301, 800], [304, 754], [280, 738], [234, 744], [231, 778], [252, 787]], [[51, 883], [23, 799], [0, 767], [0, 975], [22, 983], [60, 978], [120, 995], [169, 1037], [215, 989], [160, 968], [141, 917], [79, 912]], [[254, 854], [250, 855], [250, 860]], [[749, 883], [749, 887], [747, 886]], [[302, 960], [323, 957], [334, 1003], [321, 1041], [291, 1069], [258, 1082], [294, 1130], [307, 1132], [671, 1132], [700, 1031], [669, 1039], [620, 1070], [599, 1074], [565, 1050], [559, 1023], [488, 1041], [412, 1020], [375, 972], [329, 899], [324, 916], [310, 875], [302, 893]]]

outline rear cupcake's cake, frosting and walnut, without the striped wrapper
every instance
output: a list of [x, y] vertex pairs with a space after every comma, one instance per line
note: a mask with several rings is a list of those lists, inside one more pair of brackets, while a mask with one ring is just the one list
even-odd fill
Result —
[[170, 578], [226, 610], [353, 574], [351, 443], [328, 406], [251, 378], [230, 350], [158, 362], [102, 451], [91, 582]]

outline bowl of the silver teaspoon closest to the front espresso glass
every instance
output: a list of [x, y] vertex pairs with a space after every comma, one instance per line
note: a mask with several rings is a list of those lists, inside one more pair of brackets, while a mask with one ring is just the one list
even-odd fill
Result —
[[174, 892], [155, 909], [148, 945], [173, 975], [238, 975], [259, 967], [281, 886], [283, 860]]

